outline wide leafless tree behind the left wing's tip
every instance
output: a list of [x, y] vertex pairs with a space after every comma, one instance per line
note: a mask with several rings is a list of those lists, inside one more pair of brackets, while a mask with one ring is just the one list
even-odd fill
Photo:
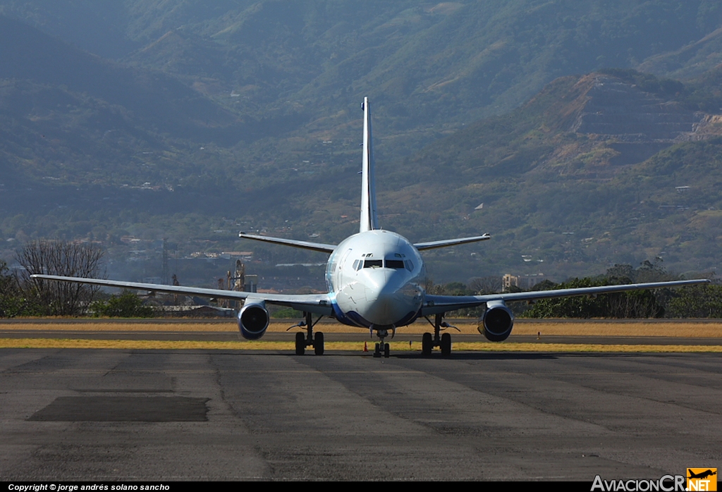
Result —
[[25, 268], [22, 274], [22, 286], [26, 296], [35, 296], [48, 315], [80, 315], [100, 289], [87, 284], [30, 278], [33, 273], [98, 278], [103, 250], [95, 245], [60, 240], [36, 240], [27, 242], [22, 250], [18, 250], [16, 258]]

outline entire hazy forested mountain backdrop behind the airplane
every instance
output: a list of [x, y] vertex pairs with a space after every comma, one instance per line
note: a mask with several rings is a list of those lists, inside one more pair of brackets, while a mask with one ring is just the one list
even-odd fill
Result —
[[708, 0], [0, 0], [0, 239], [338, 241], [369, 96], [382, 224], [494, 236], [430, 253], [449, 276], [710, 268], [721, 28]]

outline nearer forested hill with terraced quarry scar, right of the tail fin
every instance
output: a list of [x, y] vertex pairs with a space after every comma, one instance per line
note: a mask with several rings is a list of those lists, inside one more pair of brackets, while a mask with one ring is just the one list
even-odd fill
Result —
[[490, 268], [571, 275], [648, 258], [674, 271], [716, 268], [721, 74], [687, 84], [619, 70], [557, 79], [518, 110], [381, 172], [391, 190], [380, 208], [412, 237], [429, 216], [434, 238], [451, 232], [444, 224], [490, 232], [494, 250], [474, 258]]

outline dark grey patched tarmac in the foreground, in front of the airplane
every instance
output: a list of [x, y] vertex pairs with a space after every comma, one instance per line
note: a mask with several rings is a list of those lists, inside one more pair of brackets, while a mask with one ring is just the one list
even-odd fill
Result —
[[0, 480], [606, 480], [722, 463], [722, 354], [0, 349]]

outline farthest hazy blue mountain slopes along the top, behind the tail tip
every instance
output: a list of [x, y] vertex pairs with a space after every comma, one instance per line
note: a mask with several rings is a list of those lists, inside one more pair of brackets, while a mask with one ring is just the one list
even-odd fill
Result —
[[385, 134], [429, 138], [559, 76], [640, 64], [697, 75], [722, 61], [716, 0], [0, 0], [0, 14], [173, 75], [243, 118], [308, 116], [316, 124], [295, 122], [304, 136], [347, 136], [365, 95]]

